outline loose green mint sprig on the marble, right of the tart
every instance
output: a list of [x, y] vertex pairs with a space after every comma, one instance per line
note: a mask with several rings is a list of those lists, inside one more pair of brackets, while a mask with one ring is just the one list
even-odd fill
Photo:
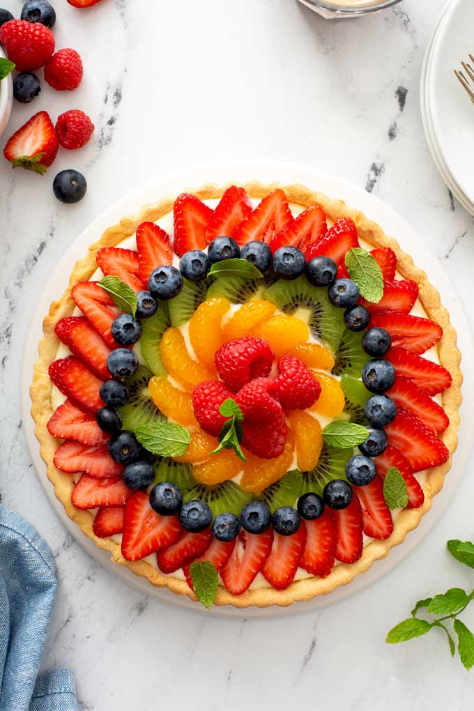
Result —
[[[460, 540], [448, 540], [448, 551], [459, 562], [474, 568], [474, 543]], [[460, 587], [451, 587], [446, 592], [426, 597], [419, 600], [411, 610], [411, 617], [395, 625], [387, 634], [389, 644], [405, 642], [415, 637], [424, 636], [432, 629], [441, 629], [446, 634], [451, 656], [456, 655], [456, 643], [453, 636], [458, 638], [459, 658], [465, 669], [474, 666], [474, 634], [458, 619], [458, 616], [474, 600], [473, 592], [465, 592]], [[421, 619], [420, 611], [424, 614], [435, 616], [434, 619]], [[452, 622], [452, 630], [449, 624]]]

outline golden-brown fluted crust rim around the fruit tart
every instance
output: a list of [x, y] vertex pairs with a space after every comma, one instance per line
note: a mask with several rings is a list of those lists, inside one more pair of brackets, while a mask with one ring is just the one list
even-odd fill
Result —
[[[203, 187], [190, 189], [187, 192], [193, 193], [201, 200], [220, 198], [225, 189], [231, 184], [217, 186], [214, 183], [208, 183]], [[449, 370], [453, 378], [451, 387], [445, 390], [442, 395], [442, 405], [450, 419], [450, 424], [448, 429], [441, 435], [441, 439], [448, 447], [450, 457], [445, 464], [435, 466], [426, 471], [426, 479], [423, 485], [425, 495], [423, 506], [402, 510], [394, 521], [394, 531], [390, 538], [387, 540], [372, 540], [365, 546], [360, 560], [350, 565], [345, 563], [336, 565], [328, 577], [309, 577], [294, 581], [283, 591], [275, 590], [271, 587], [262, 587], [247, 590], [247, 592], [239, 596], [227, 592], [227, 589], [220, 585], [215, 600], [217, 605], [231, 604], [239, 608], [252, 605], [257, 607], [270, 605], [288, 606], [294, 602], [311, 599], [316, 595], [328, 594], [340, 585], [350, 583], [357, 575], [370, 568], [373, 562], [388, 555], [392, 547], [402, 543], [406, 534], [420, 523], [421, 517], [431, 508], [433, 496], [436, 496], [438, 491], [441, 491], [444, 478], [449, 469], [451, 469], [451, 456], [458, 443], [457, 432], [460, 423], [458, 410], [462, 400], [460, 385], [463, 381], [463, 376], [460, 371], [460, 351], [456, 346], [456, 331], [451, 326], [448, 311], [441, 304], [438, 291], [431, 286], [426, 273], [416, 267], [411, 257], [401, 250], [398, 242], [393, 237], [385, 235], [379, 225], [368, 220], [358, 210], [348, 208], [343, 201], [333, 200], [323, 193], [313, 192], [297, 183], [285, 186], [280, 183], [264, 185], [257, 181], [252, 181], [244, 185], [244, 188], [251, 198], [263, 198], [275, 188], [282, 188], [290, 203], [296, 203], [303, 207], [318, 203], [333, 221], [342, 217], [352, 218], [360, 237], [369, 242], [370, 245], [374, 247], [392, 247], [392, 250], [397, 255], [397, 270], [403, 277], [413, 279], [419, 285], [419, 299], [424, 306], [426, 314], [443, 328], [443, 337], [438, 342], [439, 360], [441, 365]], [[159, 220], [163, 215], [171, 212], [175, 199], [176, 196], [164, 197], [153, 205], [145, 205], [136, 215], [122, 218], [117, 225], [105, 230], [102, 237], [91, 245], [87, 255], [76, 262], [70, 275], [68, 289], [58, 301], [53, 301], [48, 316], [43, 321], [44, 337], [39, 344], [39, 357], [34, 366], [30, 395], [33, 403], [31, 414], [36, 423], [35, 434], [41, 445], [41, 456], [47, 466], [48, 479], [53, 484], [55, 495], [63, 503], [68, 516], [80, 526], [82, 532], [88, 538], [91, 538], [97, 546], [109, 551], [112, 561], [115, 563], [124, 565], [134, 574], [147, 578], [156, 587], [168, 587], [173, 593], [188, 595], [191, 599], [196, 599], [195, 594], [184, 580], [163, 575], [146, 560], [126, 561], [122, 556], [119, 543], [112, 538], [97, 538], [92, 530], [94, 514], [89, 510], [79, 510], [71, 503], [72, 476], [63, 474], [53, 465], [53, 456], [59, 440], [52, 437], [46, 427], [53, 414], [51, 405], [53, 383], [48, 375], [48, 367], [55, 360], [60, 343], [55, 335], [54, 328], [60, 319], [72, 314], [75, 308], [75, 303], [71, 296], [72, 287], [77, 282], [82, 282], [92, 277], [92, 274], [97, 269], [95, 262], [97, 250], [101, 247], [118, 245], [126, 237], [134, 235], [136, 228], [144, 220], [153, 222]]]

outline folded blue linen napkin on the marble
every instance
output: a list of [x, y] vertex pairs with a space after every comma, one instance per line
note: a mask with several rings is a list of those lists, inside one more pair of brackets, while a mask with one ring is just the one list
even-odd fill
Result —
[[0, 711], [79, 711], [70, 670], [38, 677], [57, 587], [48, 545], [0, 506]]

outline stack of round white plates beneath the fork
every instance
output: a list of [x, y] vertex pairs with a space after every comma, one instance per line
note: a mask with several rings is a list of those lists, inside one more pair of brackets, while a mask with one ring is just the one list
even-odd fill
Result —
[[[474, 215], [474, 104], [454, 75], [474, 54], [474, 0], [451, 0], [426, 50], [421, 118], [433, 160], [461, 205]], [[473, 87], [474, 88], [474, 87]]]

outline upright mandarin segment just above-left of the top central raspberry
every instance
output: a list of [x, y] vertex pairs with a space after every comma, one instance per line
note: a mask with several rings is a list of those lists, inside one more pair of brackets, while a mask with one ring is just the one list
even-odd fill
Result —
[[230, 309], [224, 296], [206, 299], [195, 310], [189, 321], [189, 338], [198, 360], [215, 377], [214, 353], [227, 340], [222, 333], [222, 316]]

